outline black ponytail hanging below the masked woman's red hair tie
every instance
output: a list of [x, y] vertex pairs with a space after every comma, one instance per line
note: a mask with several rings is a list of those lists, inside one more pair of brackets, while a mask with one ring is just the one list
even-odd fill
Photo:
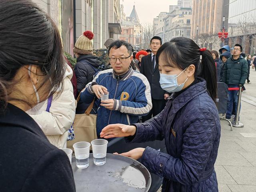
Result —
[[206, 86], [210, 97], [216, 101], [217, 97], [217, 70], [212, 54], [209, 50], [201, 52], [201, 72], [198, 75], [206, 81]]

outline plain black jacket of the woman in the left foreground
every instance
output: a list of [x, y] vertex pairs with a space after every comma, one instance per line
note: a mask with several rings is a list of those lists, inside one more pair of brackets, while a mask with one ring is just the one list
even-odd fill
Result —
[[8, 104], [0, 113], [0, 191], [75, 192], [70, 161], [24, 111]]

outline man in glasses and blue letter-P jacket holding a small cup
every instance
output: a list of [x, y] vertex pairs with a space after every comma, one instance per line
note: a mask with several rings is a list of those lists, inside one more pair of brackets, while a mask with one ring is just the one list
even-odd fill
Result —
[[[80, 99], [91, 103], [95, 96], [97, 134], [108, 124], [133, 124], [138, 116], [145, 116], [152, 108], [150, 85], [147, 78], [130, 67], [132, 46], [122, 40], [110, 44], [108, 55], [112, 69], [99, 72], [81, 91]], [[108, 92], [109, 99], [101, 100]]]

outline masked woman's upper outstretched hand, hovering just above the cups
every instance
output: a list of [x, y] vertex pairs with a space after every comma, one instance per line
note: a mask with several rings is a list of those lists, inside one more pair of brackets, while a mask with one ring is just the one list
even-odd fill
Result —
[[100, 133], [101, 138], [127, 137], [136, 133], [136, 126], [124, 124], [112, 124], [104, 127]]

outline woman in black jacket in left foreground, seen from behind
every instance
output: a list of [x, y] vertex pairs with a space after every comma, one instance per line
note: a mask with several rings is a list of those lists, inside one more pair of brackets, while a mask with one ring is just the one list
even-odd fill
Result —
[[1, 0], [0, 47], [1, 192], [75, 191], [65, 152], [26, 113], [61, 94], [66, 66], [58, 28], [30, 0]]

